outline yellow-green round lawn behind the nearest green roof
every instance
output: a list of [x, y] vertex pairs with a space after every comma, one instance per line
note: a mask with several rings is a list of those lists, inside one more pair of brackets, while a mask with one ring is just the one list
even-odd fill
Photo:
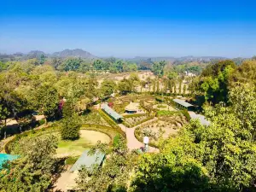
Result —
[[75, 141], [63, 141], [60, 137], [57, 156], [79, 156], [84, 152], [84, 149], [90, 148], [96, 145], [97, 141], [102, 143], [110, 143], [110, 137], [99, 131], [81, 130], [81, 135], [78, 140]]

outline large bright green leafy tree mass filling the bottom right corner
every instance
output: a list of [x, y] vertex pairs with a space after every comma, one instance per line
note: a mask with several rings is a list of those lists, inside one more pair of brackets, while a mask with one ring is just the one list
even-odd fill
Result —
[[233, 88], [229, 107], [206, 108], [210, 125], [191, 120], [177, 137], [161, 144], [160, 154], [143, 155], [132, 189], [252, 191], [256, 182], [253, 94], [253, 88]]

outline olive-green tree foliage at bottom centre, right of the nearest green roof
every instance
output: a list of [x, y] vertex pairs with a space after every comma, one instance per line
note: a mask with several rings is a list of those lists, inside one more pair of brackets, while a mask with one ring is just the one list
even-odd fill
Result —
[[[100, 147], [100, 146], [99, 146]], [[101, 148], [106, 152], [106, 148]], [[104, 166], [83, 167], [77, 179], [79, 189], [84, 191], [122, 191], [127, 190], [130, 172], [136, 163], [137, 155], [128, 153], [125, 140], [113, 146]], [[88, 179], [90, 177], [90, 179]]]

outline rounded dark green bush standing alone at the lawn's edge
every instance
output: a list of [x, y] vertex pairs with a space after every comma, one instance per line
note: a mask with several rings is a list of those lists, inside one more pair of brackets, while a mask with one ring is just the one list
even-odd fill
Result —
[[72, 116], [63, 119], [61, 126], [61, 138], [64, 140], [76, 140], [80, 137], [80, 125], [77, 118]]

